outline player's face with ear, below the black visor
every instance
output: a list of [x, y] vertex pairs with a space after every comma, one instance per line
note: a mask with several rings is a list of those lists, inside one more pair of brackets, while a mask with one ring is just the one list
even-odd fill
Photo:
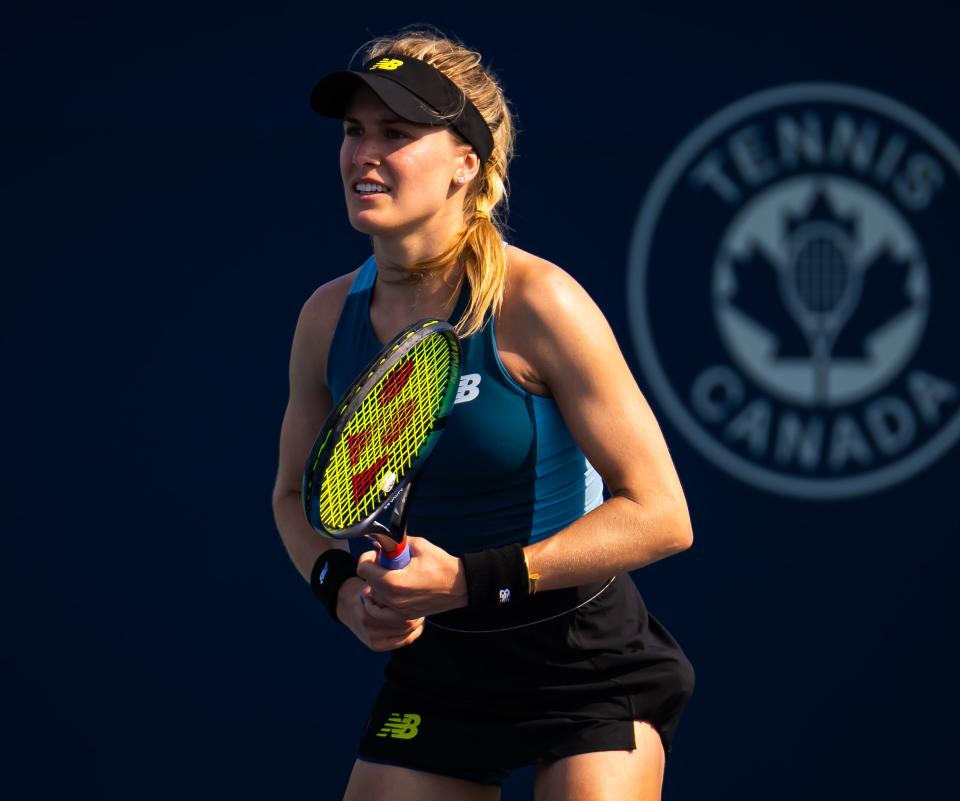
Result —
[[469, 145], [447, 128], [399, 119], [367, 87], [354, 93], [343, 131], [340, 174], [354, 228], [374, 236], [459, 230], [461, 190], [479, 168]]

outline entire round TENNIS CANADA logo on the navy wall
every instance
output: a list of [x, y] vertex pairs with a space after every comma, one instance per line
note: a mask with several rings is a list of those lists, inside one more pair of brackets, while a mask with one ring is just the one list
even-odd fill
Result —
[[796, 84], [694, 130], [628, 265], [653, 396], [721, 469], [807, 498], [904, 481], [960, 438], [960, 149], [876, 92]]

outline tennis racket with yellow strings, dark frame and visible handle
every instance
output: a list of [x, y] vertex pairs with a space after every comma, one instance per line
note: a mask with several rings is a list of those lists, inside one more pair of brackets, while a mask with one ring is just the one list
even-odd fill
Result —
[[453, 408], [460, 359], [453, 326], [420, 320], [343, 394], [303, 473], [303, 511], [316, 531], [334, 539], [366, 535], [379, 546], [383, 567], [407, 565], [411, 482]]

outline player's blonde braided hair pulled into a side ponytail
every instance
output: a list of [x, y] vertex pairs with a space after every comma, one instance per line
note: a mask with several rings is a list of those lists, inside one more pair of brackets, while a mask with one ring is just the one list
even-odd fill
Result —
[[[374, 39], [364, 48], [364, 62], [396, 53], [426, 61], [440, 70], [477, 107], [493, 134], [493, 152], [464, 195], [466, 227], [446, 252], [418, 265], [421, 270], [434, 271], [463, 264], [470, 283], [470, 304], [456, 327], [461, 337], [470, 336], [483, 327], [487, 314], [496, 314], [503, 303], [507, 167], [514, 143], [510, 108], [496, 78], [480, 63], [480, 54], [439, 31], [405, 28]], [[453, 129], [450, 131], [458, 136]]]

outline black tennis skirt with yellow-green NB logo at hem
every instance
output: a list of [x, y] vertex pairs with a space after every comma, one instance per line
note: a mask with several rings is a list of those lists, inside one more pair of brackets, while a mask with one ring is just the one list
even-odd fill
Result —
[[635, 720], [669, 754], [694, 686], [628, 575], [509, 613], [436, 615], [391, 652], [385, 678], [360, 759], [495, 785], [526, 765], [631, 750]]

